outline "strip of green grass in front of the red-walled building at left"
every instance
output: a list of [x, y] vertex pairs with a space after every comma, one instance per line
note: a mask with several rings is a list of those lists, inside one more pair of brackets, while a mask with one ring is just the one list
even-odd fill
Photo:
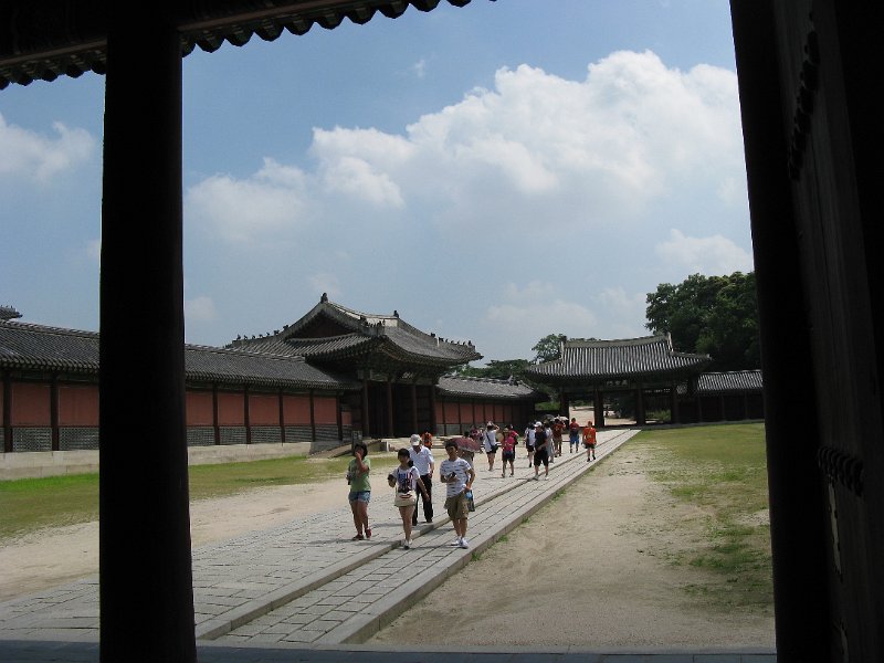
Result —
[[[397, 465], [394, 454], [372, 454], [376, 490]], [[188, 469], [190, 499], [224, 497], [257, 488], [313, 483], [340, 477], [350, 456], [311, 459], [288, 456], [242, 463], [192, 465]], [[380, 483], [379, 483], [380, 482]], [[98, 518], [98, 474], [75, 474], [0, 482], [0, 541], [44, 527], [88, 523]]]

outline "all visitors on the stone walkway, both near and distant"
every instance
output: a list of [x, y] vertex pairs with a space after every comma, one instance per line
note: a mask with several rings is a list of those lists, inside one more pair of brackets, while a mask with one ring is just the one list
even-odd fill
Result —
[[[575, 450], [580, 451], [582, 435], [587, 463], [596, 460], [596, 428], [591, 421], [587, 422], [582, 429], [576, 418], [572, 418], [570, 422], [558, 417], [544, 422], [535, 421], [528, 423], [525, 429], [528, 467], [534, 467], [535, 480], [540, 478], [540, 465], [544, 466], [544, 478], [549, 477], [549, 463], [555, 462], [557, 455], [561, 455], [562, 435], [566, 429], [571, 453]], [[501, 431], [499, 427], [490, 421], [481, 433], [474, 429], [470, 434], [478, 438], [488, 460], [488, 472], [494, 471], [499, 448], [503, 459], [501, 476], [506, 477], [507, 464], [509, 465], [509, 476], [514, 476], [518, 433], [513, 425], [505, 427]], [[424, 519], [427, 523], [433, 522], [432, 486], [435, 460], [432, 446], [433, 436], [429, 431], [425, 431], [423, 435], [411, 435], [410, 449], [400, 449], [397, 452], [399, 465], [387, 475], [387, 483], [391, 488], [396, 488], [393, 505], [398, 507], [402, 518], [404, 534], [402, 547], [406, 549], [411, 548], [411, 533], [418, 525], [419, 497], [423, 499]], [[464, 454], [454, 440], [445, 442], [445, 453], [448, 457], [440, 463], [439, 480], [445, 484], [445, 511], [454, 526], [455, 538], [451, 545], [469, 548], [470, 544], [466, 540], [469, 503], [476, 477], [472, 454], [471, 460], [463, 457]], [[371, 462], [367, 457], [368, 446], [364, 442], [357, 442], [354, 445], [352, 456], [347, 467], [347, 483], [350, 486], [348, 498], [352, 509], [352, 522], [356, 526], [356, 536], [352, 538], [354, 540], [370, 539], [368, 503], [371, 499], [371, 485], [368, 475], [371, 471]]]

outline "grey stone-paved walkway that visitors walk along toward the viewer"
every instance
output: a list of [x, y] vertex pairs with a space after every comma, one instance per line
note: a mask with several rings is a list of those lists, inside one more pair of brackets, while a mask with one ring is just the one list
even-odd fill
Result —
[[[635, 432], [601, 431], [598, 460]], [[543, 478], [541, 469], [540, 481], [533, 481], [534, 470], [527, 467], [524, 457], [517, 465], [514, 477], [501, 477], [497, 471], [487, 472], [484, 457], [477, 456], [477, 478], [473, 486], [476, 511], [470, 514], [471, 547], [466, 550], [449, 545], [453, 540], [453, 529], [441, 508], [442, 484], [434, 499], [439, 503], [435, 522], [418, 526], [413, 534], [415, 546], [411, 550], [401, 547], [401, 522], [385, 490], [376, 490], [372, 495], [371, 540], [350, 540], [352, 517], [345, 505], [194, 549], [194, 617], [200, 660], [292, 660], [292, 648], [306, 646], [309, 655], [295, 660], [340, 660], [344, 651], [349, 652], [348, 656], [358, 651], [369, 656], [366, 660], [380, 661], [379, 652], [389, 651], [389, 648], [367, 649], [358, 643], [456, 573], [473, 554], [481, 552], [517, 527], [592, 464], [586, 463], [583, 453], [566, 452], [550, 465], [548, 480]], [[410, 580], [415, 569], [422, 571], [420, 585]], [[0, 603], [0, 660], [97, 661], [97, 577]], [[343, 645], [354, 649], [340, 649]], [[278, 651], [288, 654], [272, 653]], [[333, 657], [324, 657], [323, 652]], [[412, 653], [414, 655], [408, 656], [412, 661], [435, 660], [431, 652]], [[444, 653], [438, 653], [441, 660]], [[483, 652], [474, 650], [471, 655], [480, 654]], [[512, 652], [504, 655], [499, 651], [484, 654], [495, 662], [515, 655]], [[558, 652], [519, 653], [529, 654], [535, 656], [532, 661], [568, 660], [575, 651], [564, 648]], [[464, 655], [459, 653], [459, 656]], [[590, 652], [581, 652], [580, 660], [592, 661], [589, 655]], [[712, 659], [695, 657], [701, 653], [684, 655], [690, 657], [660, 661], [770, 663], [776, 660], [770, 652], [704, 654], [715, 656]], [[756, 655], [761, 657], [754, 657]], [[641, 660], [652, 659], [623, 659], [624, 662]]]

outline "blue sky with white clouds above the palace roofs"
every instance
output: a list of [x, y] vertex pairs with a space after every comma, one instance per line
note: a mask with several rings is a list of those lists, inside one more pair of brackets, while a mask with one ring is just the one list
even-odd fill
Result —
[[[443, 0], [182, 66], [187, 343], [327, 293], [482, 366], [646, 336], [661, 283], [754, 270], [727, 0]], [[92, 73], [0, 91], [22, 322], [99, 328], [103, 95]]]

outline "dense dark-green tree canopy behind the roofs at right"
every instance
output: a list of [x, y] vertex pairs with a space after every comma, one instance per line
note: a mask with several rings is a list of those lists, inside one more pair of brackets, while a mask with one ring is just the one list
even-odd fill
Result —
[[672, 336], [682, 352], [709, 355], [712, 370], [760, 368], [755, 273], [692, 274], [677, 285], [648, 293], [645, 327]]

